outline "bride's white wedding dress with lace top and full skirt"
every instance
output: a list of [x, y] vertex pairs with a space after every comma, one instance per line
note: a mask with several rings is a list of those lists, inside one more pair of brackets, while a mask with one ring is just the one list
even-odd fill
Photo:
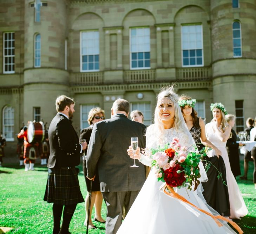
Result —
[[[153, 148], [159, 145], [155, 134], [156, 131], [154, 125], [147, 128], [146, 148]], [[177, 132], [173, 128], [164, 130], [165, 142], [171, 142], [174, 137], [179, 138], [182, 146], [189, 147], [194, 142], [188, 130], [184, 132]], [[150, 166], [151, 160], [148, 160], [146, 156], [142, 155], [140, 161]], [[226, 222], [221, 221], [224, 226], [219, 227], [210, 216], [192, 208], [187, 203], [164, 194], [159, 190], [162, 185], [163, 182], [157, 182], [156, 175], [151, 171], [120, 226], [118, 234], [235, 233]], [[186, 188], [175, 190], [197, 207], [210, 212], [209, 206], [205, 205], [205, 200], [198, 196], [198, 194], [201, 194], [201, 197], [203, 197], [201, 191], [193, 192]]]

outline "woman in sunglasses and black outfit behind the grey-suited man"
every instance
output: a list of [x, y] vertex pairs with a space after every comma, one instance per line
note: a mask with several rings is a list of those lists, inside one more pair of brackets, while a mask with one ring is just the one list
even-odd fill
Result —
[[[81, 142], [82, 140], [86, 140], [87, 145], [89, 144], [89, 140], [92, 134], [92, 127], [94, 123], [97, 123], [99, 121], [102, 121], [105, 119], [105, 111], [101, 109], [100, 107], [95, 107], [92, 108], [88, 114], [88, 124], [90, 125], [87, 128], [84, 128], [79, 136], [79, 141]], [[85, 155], [86, 155], [87, 149], [85, 149]], [[92, 215], [92, 208], [94, 205], [95, 208], [95, 216], [94, 216], [94, 221], [98, 221], [101, 223], [105, 223], [105, 220], [101, 217], [101, 205], [102, 205], [102, 194], [100, 192], [100, 183], [99, 183], [99, 176], [98, 172], [96, 172], [96, 177], [94, 181], [92, 181], [92, 198], [91, 198], [91, 208], [90, 208], [90, 215], [88, 215], [88, 206], [89, 206], [89, 191], [90, 191], [90, 180], [86, 178], [87, 175], [87, 168], [86, 168], [86, 160], [83, 160], [83, 171], [84, 171], [84, 176], [85, 176], [85, 182], [86, 182], [86, 187], [87, 187], [87, 195], [85, 198], [85, 222], [84, 225], [87, 225], [87, 219], [89, 219], [89, 227], [91, 229], [96, 228], [96, 226], [93, 225], [91, 215]]]

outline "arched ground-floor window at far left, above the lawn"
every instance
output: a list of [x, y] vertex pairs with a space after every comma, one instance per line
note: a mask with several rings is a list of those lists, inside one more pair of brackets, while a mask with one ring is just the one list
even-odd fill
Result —
[[14, 109], [11, 106], [3, 109], [3, 135], [6, 141], [14, 141]]

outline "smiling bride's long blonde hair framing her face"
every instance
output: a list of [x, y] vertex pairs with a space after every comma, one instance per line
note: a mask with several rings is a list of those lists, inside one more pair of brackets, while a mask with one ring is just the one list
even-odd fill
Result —
[[173, 102], [174, 114], [175, 114], [173, 128], [175, 128], [177, 131], [186, 131], [187, 129], [185, 120], [183, 118], [181, 109], [178, 104], [179, 95], [175, 92], [173, 85], [163, 87], [160, 93], [157, 95], [157, 105], [156, 105], [155, 114], [154, 114], [154, 123], [157, 128], [156, 133], [157, 133], [158, 139], [163, 138], [163, 132], [164, 132], [164, 124], [160, 119], [159, 109], [158, 109], [158, 106], [160, 104], [159, 101], [162, 100], [163, 98], [168, 98]]

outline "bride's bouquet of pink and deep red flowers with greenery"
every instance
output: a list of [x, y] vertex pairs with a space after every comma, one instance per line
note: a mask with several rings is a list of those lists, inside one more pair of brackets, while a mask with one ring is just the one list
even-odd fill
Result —
[[171, 143], [166, 143], [164, 146], [145, 149], [144, 154], [149, 156], [151, 168], [155, 171], [158, 181], [163, 181], [170, 187], [188, 187], [194, 190], [199, 185], [200, 171], [199, 162], [205, 156], [188, 151], [188, 148], [179, 144], [178, 138], [173, 138]]

